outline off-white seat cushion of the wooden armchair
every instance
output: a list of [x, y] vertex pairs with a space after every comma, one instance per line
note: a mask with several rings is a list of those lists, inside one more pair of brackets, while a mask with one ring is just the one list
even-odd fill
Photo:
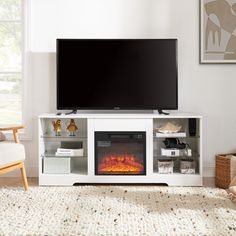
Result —
[[25, 159], [25, 148], [13, 142], [0, 143], [0, 167]]

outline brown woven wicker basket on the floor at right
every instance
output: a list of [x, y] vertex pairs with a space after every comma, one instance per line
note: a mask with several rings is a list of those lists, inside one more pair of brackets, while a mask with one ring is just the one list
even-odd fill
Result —
[[215, 185], [220, 188], [228, 188], [231, 182], [230, 176], [230, 160], [232, 154], [219, 154], [216, 155], [216, 177]]

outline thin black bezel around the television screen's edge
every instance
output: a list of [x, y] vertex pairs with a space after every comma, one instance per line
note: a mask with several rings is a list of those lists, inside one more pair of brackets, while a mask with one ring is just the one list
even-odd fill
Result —
[[[113, 40], [121, 40], [121, 41], [175, 41], [175, 49], [176, 49], [176, 106], [175, 107], [167, 107], [167, 106], [158, 106], [158, 107], [80, 107], [80, 106], [69, 106], [69, 107], [61, 107], [59, 106], [59, 43], [60, 41], [113, 41]], [[168, 38], [168, 39], [125, 39], [125, 38], [113, 38], [113, 39], [65, 39], [65, 38], [58, 38], [56, 39], [56, 104], [57, 104], [57, 110], [178, 110], [178, 39], [177, 38]]]

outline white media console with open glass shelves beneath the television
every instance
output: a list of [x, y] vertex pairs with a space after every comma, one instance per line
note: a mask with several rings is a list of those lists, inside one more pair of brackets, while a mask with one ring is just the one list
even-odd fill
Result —
[[[189, 118], [196, 121], [196, 133], [189, 134]], [[74, 119], [78, 130], [70, 136], [66, 129], [70, 120]], [[52, 122], [61, 120], [61, 134], [55, 135]], [[155, 129], [167, 122], [181, 125], [181, 134], [158, 134]], [[137, 147], [145, 152], [145, 171], [141, 175], [98, 174], [95, 166], [95, 134], [126, 134], [130, 137], [145, 137], [145, 148]], [[183, 133], [185, 135], [183, 135]], [[136, 135], [137, 134], [137, 135]], [[118, 136], [117, 136], [118, 137]], [[165, 147], [165, 138], [177, 137], [191, 148], [191, 157], [185, 154], [164, 156], [161, 148]], [[168, 184], [169, 186], [202, 186], [202, 117], [193, 114], [73, 114], [39, 116], [39, 185], [73, 185], [76, 183], [128, 183], [128, 184]], [[83, 144], [83, 154], [79, 156], [57, 156], [55, 153], [63, 141], [78, 141]], [[108, 141], [98, 141], [102, 146]], [[139, 141], [137, 141], [138, 143]], [[108, 145], [109, 146], [109, 145]], [[131, 145], [132, 146], [132, 145]], [[122, 151], [122, 143], [118, 143]], [[102, 149], [102, 148], [101, 148]], [[135, 149], [135, 148], [133, 148]], [[126, 150], [124, 148], [124, 150]], [[114, 150], [113, 150], [114, 151]], [[127, 152], [127, 151], [126, 151]], [[109, 157], [112, 159], [112, 157]], [[110, 160], [108, 158], [108, 160]], [[119, 161], [123, 159], [119, 157]], [[128, 160], [130, 157], [127, 157]], [[181, 162], [190, 160], [194, 163], [195, 173], [181, 173]], [[173, 173], [160, 173], [160, 163], [172, 163]], [[170, 165], [171, 166], [171, 165]]]

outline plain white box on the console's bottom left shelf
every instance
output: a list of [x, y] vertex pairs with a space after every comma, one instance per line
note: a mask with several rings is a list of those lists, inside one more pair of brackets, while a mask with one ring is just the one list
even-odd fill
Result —
[[44, 174], [70, 174], [71, 161], [70, 158], [53, 158], [46, 157], [43, 159]]

